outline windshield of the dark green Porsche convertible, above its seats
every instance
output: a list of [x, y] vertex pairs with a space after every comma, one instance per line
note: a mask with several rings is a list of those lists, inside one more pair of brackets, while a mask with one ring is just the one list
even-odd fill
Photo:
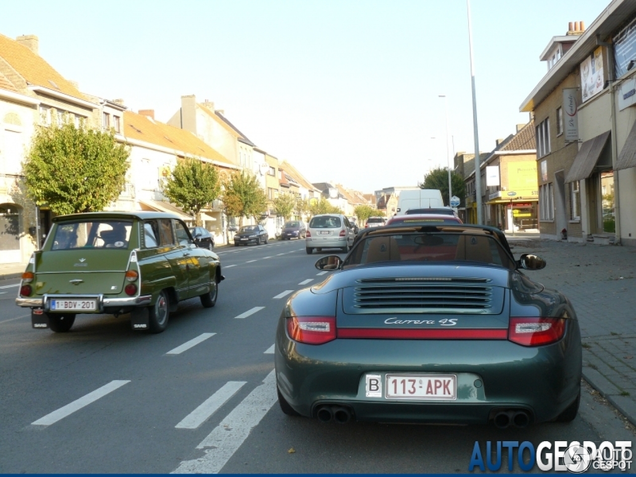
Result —
[[513, 259], [497, 239], [481, 230], [462, 232], [461, 229], [457, 232], [370, 234], [356, 244], [343, 268], [396, 261], [413, 264], [470, 261], [515, 269]]

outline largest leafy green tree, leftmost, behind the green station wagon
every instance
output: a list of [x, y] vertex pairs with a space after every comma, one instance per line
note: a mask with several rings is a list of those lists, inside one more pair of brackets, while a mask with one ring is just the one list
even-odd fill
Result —
[[22, 165], [27, 194], [55, 214], [102, 211], [125, 186], [129, 155], [113, 131], [71, 121], [37, 127]]

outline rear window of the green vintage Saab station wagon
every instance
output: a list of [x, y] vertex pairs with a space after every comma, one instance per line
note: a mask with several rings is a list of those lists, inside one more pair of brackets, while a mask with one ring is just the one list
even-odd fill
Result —
[[62, 222], [55, 228], [51, 250], [127, 249], [132, 221]]

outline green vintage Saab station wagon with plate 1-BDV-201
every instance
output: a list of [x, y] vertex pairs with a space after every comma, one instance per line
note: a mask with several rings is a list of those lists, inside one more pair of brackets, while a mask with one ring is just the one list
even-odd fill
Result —
[[130, 313], [133, 329], [161, 333], [177, 303], [218, 296], [221, 263], [188, 227], [163, 212], [90, 212], [53, 219], [33, 254], [16, 303], [33, 328], [69, 331], [78, 314]]

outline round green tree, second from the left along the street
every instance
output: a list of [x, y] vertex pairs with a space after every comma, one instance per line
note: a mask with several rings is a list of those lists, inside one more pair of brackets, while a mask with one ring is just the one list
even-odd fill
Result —
[[201, 209], [209, 207], [221, 193], [219, 171], [197, 158], [180, 159], [163, 186], [163, 193], [201, 226]]

